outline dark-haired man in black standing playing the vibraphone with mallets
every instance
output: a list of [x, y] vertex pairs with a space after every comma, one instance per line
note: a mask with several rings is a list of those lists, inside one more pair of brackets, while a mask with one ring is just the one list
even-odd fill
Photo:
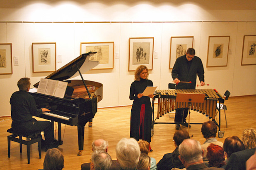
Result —
[[[204, 69], [203, 63], [199, 57], [195, 56], [195, 50], [188, 48], [186, 55], [178, 57], [175, 61], [174, 67], [171, 71], [171, 76], [176, 83], [176, 89], [195, 89], [196, 88], [196, 75], [200, 80], [200, 85], [204, 86]], [[179, 83], [179, 82], [191, 82], [191, 83]], [[183, 114], [184, 113], [184, 114]], [[188, 116], [188, 109], [176, 109], [175, 123], [186, 123], [186, 117]], [[187, 124], [184, 124], [188, 126]], [[176, 129], [179, 129], [180, 125], [176, 124]]]

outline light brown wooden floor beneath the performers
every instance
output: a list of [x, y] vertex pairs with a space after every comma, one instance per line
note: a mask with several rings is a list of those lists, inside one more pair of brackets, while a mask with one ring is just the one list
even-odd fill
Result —
[[[226, 111], [228, 127], [226, 128], [224, 111], [222, 111], [221, 130], [225, 133], [223, 138], [217, 137], [219, 141], [224, 142], [226, 137], [232, 135], [241, 137], [244, 129], [256, 128], [256, 95], [230, 97], [225, 104], [228, 109]], [[98, 109], [93, 119], [93, 126], [85, 125], [85, 142], [82, 156], [77, 156], [77, 127], [63, 125], [63, 145], [58, 147], [64, 155], [65, 168], [63, 170], [80, 170], [82, 163], [89, 162], [92, 152], [91, 144], [95, 139], [107, 140], [109, 142], [109, 154], [112, 159], [116, 159], [115, 148], [117, 142], [123, 137], [128, 138], [130, 135], [130, 109], [131, 106]], [[170, 116], [173, 117], [174, 114], [172, 113]], [[37, 119], [40, 120], [40, 118]], [[174, 118], [169, 118], [167, 113], [156, 121], [174, 122]], [[191, 112], [191, 122], [203, 123], [205, 121], [208, 121], [208, 118], [201, 113]], [[21, 154], [19, 153], [19, 144], [16, 142], [11, 142], [11, 157], [8, 158], [7, 135], [10, 135], [10, 133], [6, 130], [11, 127], [11, 122], [10, 117], [0, 119], [0, 169], [37, 170], [43, 168], [45, 152], [42, 152], [42, 158], [39, 159], [37, 144], [31, 146], [30, 164], [27, 164], [26, 146], [23, 145]], [[174, 124], [156, 124], [154, 127], [155, 133], [151, 142], [153, 151], [149, 155], [155, 158], [157, 162], [164, 153], [172, 152], [175, 149], [172, 140], [175, 132], [174, 127]], [[193, 135], [193, 139], [203, 143], [205, 139], [201, 135], [200, 128], [201, 125], [192, 125], [189, 132], [191, 136]]]

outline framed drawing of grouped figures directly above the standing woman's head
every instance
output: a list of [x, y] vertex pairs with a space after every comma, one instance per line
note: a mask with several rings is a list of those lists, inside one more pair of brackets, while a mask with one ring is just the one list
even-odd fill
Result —
[[135, 71], [140, 65], [153, 69], [154, 37], [130, 38], [129, 40], [129, 71]]

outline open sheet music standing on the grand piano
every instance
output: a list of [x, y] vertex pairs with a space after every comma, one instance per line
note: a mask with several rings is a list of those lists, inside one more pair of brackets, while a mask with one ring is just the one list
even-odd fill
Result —
[[37, 89], [38, 93], [63, 98], [68, 82], [41, 78]]

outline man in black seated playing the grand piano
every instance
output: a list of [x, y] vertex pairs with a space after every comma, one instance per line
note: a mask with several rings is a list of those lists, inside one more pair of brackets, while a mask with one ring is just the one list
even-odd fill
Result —
[[46, 150], [58, 147], [54, 142], [54, 133], [49, 121], [37, 121], [32, 116], [38, 116], [42, 112], [50, 111], [46, 108], [37, 109], [34, 98], [28, 93], [30, 89], [30, 78], [21, 78], [18, 81], [19, 91], [14, 92], [10, 99], [12, 129], [22, 132], [43, 131]]

